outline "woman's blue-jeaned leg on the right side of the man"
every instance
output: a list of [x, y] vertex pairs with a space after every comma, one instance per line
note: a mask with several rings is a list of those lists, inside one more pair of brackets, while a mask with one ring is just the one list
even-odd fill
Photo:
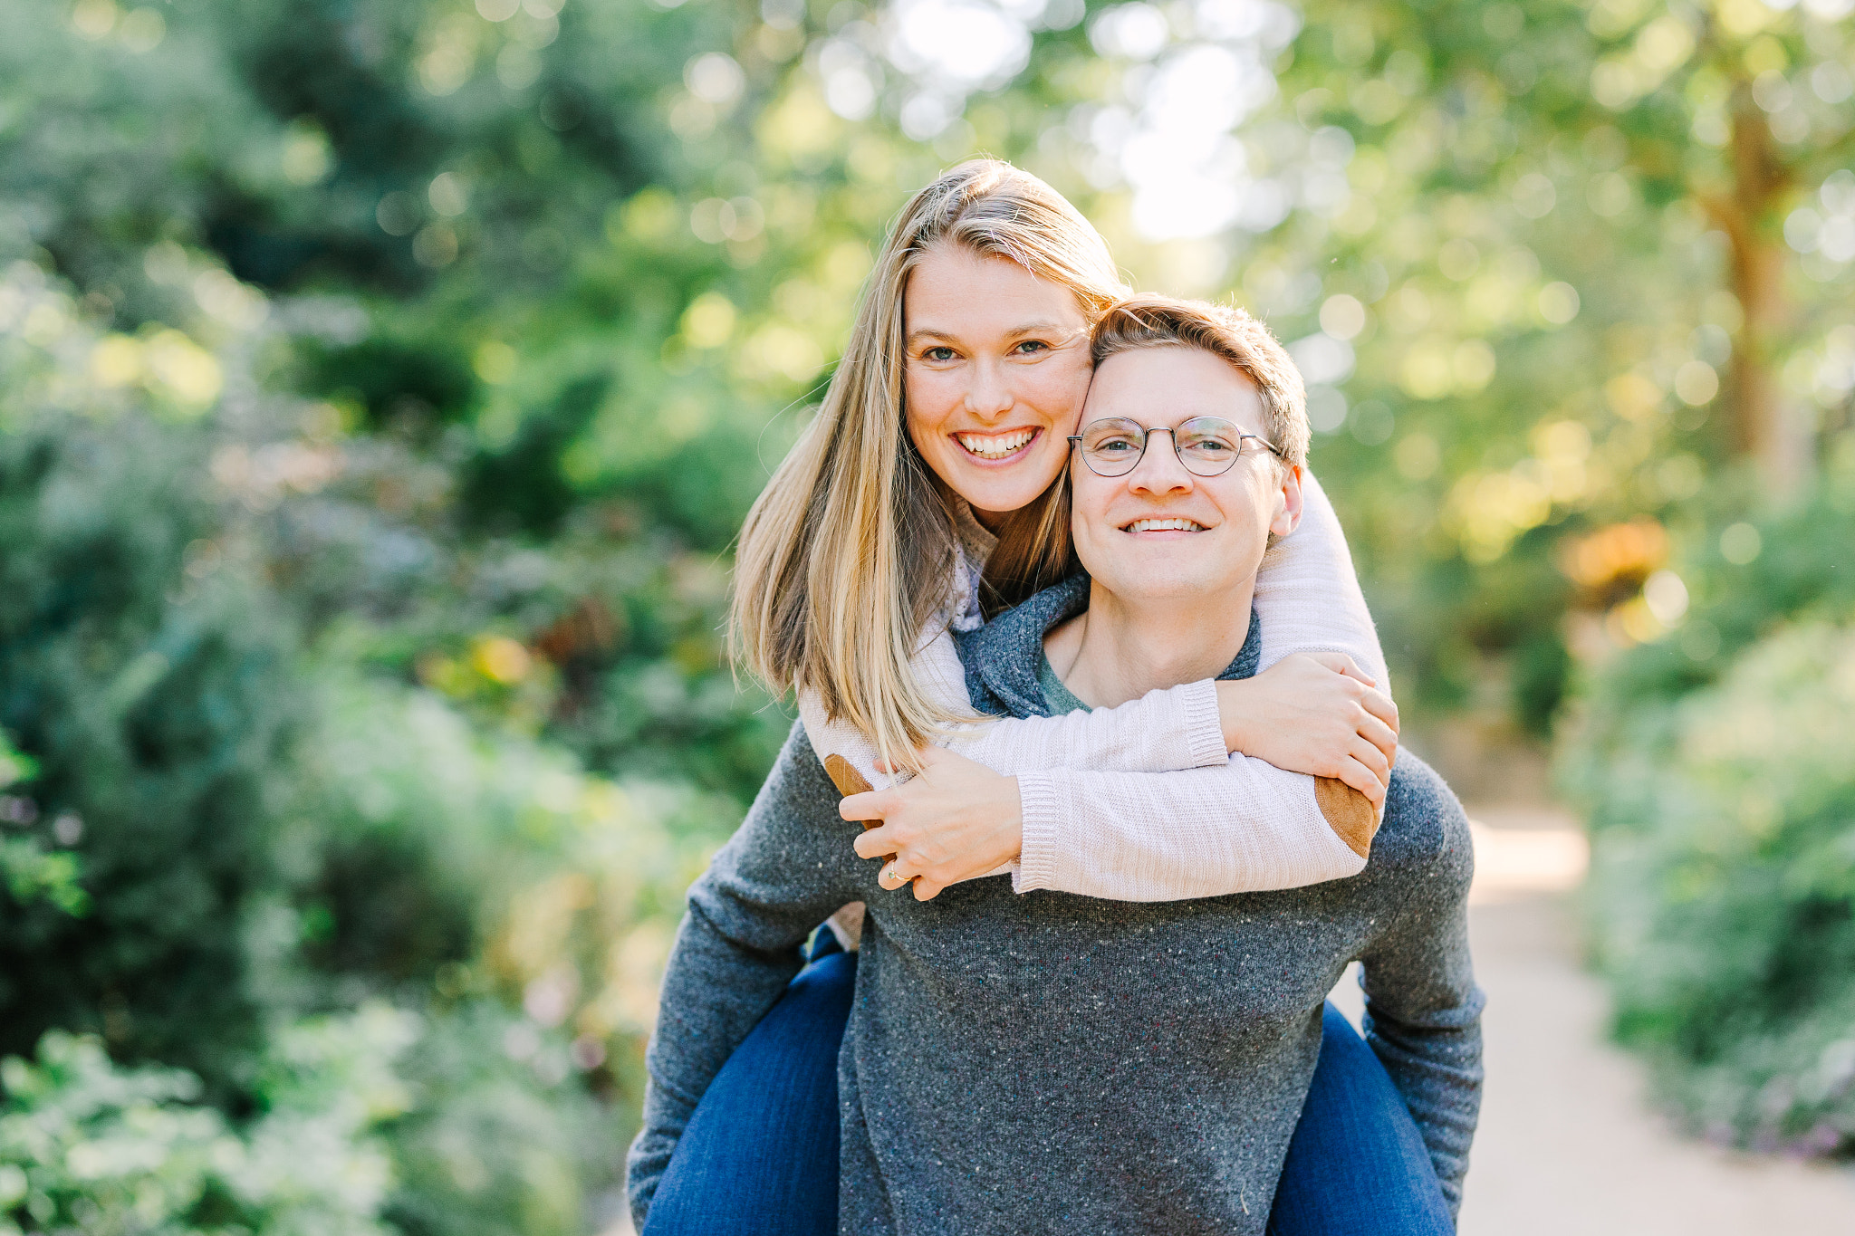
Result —
[[1321, 1062], [1282, 1164], [1269, 1236], [1451, 1236], [1417, 1123], [1378, 1056], [1332, 1004]]

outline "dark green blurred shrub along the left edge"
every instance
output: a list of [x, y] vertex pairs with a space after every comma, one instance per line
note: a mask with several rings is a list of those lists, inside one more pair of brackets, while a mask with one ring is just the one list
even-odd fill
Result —
[[276, 608], [186, 571], [213, 532], [197, 467], [189, 435], [134, 423], [0, 437], [0, 725], [37, 763], [33, 836], [82, 839], [89, 901], [0, 925], [11, 1051], [63, 1027], [224, 1078], [258, 1041], [245, 906], [282, 878], [269, 799], [297, 697]]

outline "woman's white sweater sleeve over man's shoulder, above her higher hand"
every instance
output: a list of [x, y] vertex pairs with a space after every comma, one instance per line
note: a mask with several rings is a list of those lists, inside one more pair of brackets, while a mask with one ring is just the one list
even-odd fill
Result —
[[1389, 695], [1386, 656], [1334, 504], [1310, 471], [1302, 471], [1300, 493], [1300, 524], [1263, 554], [1256, 573], [1261, 669], [1293, 652], [1345, 652]]

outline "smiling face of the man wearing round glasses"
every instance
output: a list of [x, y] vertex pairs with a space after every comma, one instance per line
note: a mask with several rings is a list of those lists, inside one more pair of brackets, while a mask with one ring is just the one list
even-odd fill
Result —
[[[1222, 417], [1245, 434], [1263, 434], [1256, 385], [1209, 352], [1156, 347], [1117, 352], [1094, 371], [1081, 424], [1126, 417], [1172, 428], [1193, 417]], [[1096, 584], [1126, 600], [1202, 600], [1256, 574], [1269, 534], [1287, 536], [1300, 517], [1300, 469], [1258, 443], [1221, 476], [1195, 476], [1154, 434], [1126, 476], [1096, 476], [1076, 452], [1076, 554]], [[1183, 521], [1156, 528], [1152, 521]]]

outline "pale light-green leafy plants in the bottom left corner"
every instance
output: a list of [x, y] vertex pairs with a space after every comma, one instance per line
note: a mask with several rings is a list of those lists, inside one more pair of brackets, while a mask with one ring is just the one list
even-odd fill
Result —
[[414, 1036], [378, 1006], [288, 1028], [237, 1129], [191, 1073], [122, 1069], [52, 1030], [35, 1062], [0, 1062], [0, 1232], [386, 1236], [373, 1130], [406, 1104], [391, 1060]]

